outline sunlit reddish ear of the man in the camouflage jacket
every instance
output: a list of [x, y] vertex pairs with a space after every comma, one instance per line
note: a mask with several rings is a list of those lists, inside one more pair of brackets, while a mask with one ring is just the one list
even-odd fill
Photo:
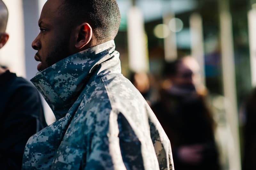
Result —
[[77, 27], [76, 44], [77, 49], [83, 48], [92, 39], [92, 27], [88, 23], [83, 23]]

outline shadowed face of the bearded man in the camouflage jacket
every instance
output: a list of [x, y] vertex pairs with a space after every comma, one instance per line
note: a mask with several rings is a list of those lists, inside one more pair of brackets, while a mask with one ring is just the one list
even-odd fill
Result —
[[37, 50], [35, 60], [40, 62], [37, 66], [38, 71], [76, 53], [72, 48], [72, 30], [67, 19], [59, 12], [61, 1], [48, 0], [38, 21], [40, 33], [32, 42], [32, 48]]

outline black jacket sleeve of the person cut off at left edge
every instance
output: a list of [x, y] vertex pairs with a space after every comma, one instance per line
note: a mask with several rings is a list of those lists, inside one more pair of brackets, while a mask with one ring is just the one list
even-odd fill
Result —
[[0, 125], [0, 166], [1, 169], [21, 169], [27, 140], [39, 130], [37, 125], [39, 115], [43, 114], [42, 105], [32, 86], [19, 87], [8, 99]]

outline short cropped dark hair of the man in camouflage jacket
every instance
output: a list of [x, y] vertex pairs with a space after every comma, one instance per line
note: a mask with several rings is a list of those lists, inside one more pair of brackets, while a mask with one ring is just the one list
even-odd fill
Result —
[[121, 20], [116, 0], [63, 0], [60, 13], [72, 24], [90, 24], [101, 43], [116, 37]]

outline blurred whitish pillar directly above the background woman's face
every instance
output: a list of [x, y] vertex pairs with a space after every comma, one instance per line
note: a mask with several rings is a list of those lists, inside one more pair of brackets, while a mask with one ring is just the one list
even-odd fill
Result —
[[200, 67], [200, 76], [205, 86], [205, 70], [204, 70], [204, 35], [202, 17], [194, 13], [189, 18], [190, 34], [191, 34], [191, 55], [196, 59]]

